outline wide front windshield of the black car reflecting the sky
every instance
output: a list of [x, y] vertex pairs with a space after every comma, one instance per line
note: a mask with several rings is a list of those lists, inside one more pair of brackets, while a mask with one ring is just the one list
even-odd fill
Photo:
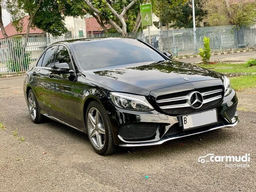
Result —
[[165, 60], [136, 39], [89, 41], [73, 46], [84, 70]]

